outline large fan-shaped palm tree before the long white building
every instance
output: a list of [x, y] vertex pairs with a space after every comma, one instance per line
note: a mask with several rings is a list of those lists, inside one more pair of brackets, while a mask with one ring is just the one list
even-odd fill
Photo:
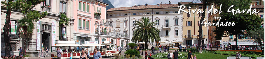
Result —
[[132, 42], [145, 42], [145, 48], [148, 49], [147, 42], [158, 42], [161, 41], [157, 28], [155, 28], [156, 22], [150, 22], [149, 18], [143, 17], [143, 22], [136, 21], [136, 27], [132, 37]]

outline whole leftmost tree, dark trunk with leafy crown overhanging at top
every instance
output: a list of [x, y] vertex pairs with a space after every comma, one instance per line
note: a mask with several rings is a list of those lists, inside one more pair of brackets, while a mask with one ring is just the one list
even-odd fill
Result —
[[1, 12], [6, 13], [6, 20], [5, 20], [6, 23], [5, 23], [4, 27], [3, 27], [6, 56], [11, 56], [11, 53], [10, 53], [11, 45], [9, 44], [10, 43], [10, 38], [8, 36], [8, 32], [10, 31], [8, 29], [10, 28], [11, 11], [12, 10], [20, 10], [20, 11], [22, 11], [22, 13], [26, 13], [27, 10], [31, 10], [33, 7], [35, 7], [36, 5], [38, 5], [41, 2], [43, 2], [43, 1], [36, 1], [36, 0], [29, 0], [29, 1], [6, 0], [6, 1], [1, 1], [2, 8], [5, 8], [7, 10], [7, 12], [1, 10]]

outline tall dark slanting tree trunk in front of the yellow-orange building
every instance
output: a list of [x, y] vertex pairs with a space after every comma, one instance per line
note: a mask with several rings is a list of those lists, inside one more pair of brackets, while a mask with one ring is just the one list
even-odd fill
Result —
[[[206, 9], [206, 0], [205, 1], [203, 1], [203, 13], [202, 13], [202, 16], [201, 16], [201, 20], [200, 20], [200, 25], [199, 25], [199, 41], [198, 41], [198, 52], [199, 53], [201, 53], [201, 40], [202, 40], [202, 37], [203, 37], [203, 31], [202, 31], [202, 22], [203, 22], [203, 20], [204, 20], [204, 16], [205, 16], [205, 9]], [[205, 25], [206, 26], [206, 25]]]

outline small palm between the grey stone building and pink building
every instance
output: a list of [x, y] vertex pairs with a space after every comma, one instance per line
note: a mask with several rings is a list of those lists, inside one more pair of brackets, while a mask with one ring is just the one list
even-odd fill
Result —
[[[62, 28], [63, 28], [63, 25], [65, 26], [68, 26], [69, 24], [69, 18], [67, 18], [67, 16], [65, 14], [60, 14], [61, 17], [60, 17], [60, 20], [59, 20], [59, 25], [60, 25], [60, 34], [62, 34]], [[62, 35], [60, 35], [60, 40], [62, 40]]]

